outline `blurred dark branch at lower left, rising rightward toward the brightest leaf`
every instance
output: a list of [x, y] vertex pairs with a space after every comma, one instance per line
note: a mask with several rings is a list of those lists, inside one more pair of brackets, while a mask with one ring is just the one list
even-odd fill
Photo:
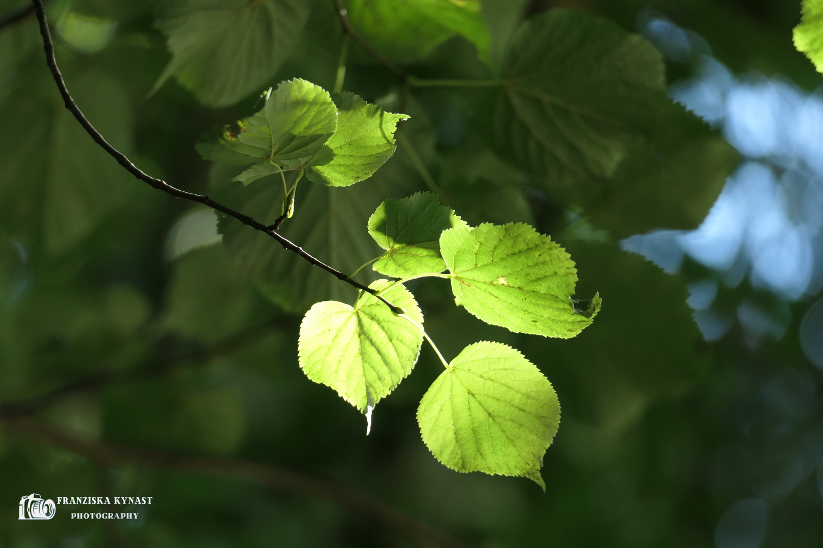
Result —
[[235, 350], [244, 348], [248, 344], [255, 343], [266, 334], [271, 333], [272, 327], [281, 325], [284, 322], [288, 322], [289, 324], [295, 323], [290, 316], [283, 316], [281, 320], [244, 329], [211, 346], [196, 348], [193, 351], [181, 352], [161, 358], [150, 357], [141, 365], [125, 371], [103, 371], [86, 375], [40, 396], [28, 398], [21, 402], [4, 403], [0, 405], [0, 414], [18, 416], [31, 415], [48, 408], [66, 396], [77, 394], [78, 392], [87, 392], [104, 386], [127, 383], [157, 375], [168, 375], [180, 366], [191, 361], [211, 361], [216, 357], [226, 356], [231, 352], [235, 352]]

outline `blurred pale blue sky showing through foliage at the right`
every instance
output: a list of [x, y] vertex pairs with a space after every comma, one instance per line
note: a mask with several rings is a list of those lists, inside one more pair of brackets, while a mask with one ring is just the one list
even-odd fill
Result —
[[[780, 77], [735, 76], [699, 35], [653, 12], [644, 12], [638, 24], [667, 59], [698, 67], [669, 94], [722, 131], [744, 161], [699, 228], [633, 236], [623, 248], [669, 273], [688, 256], [724, 285], [748, 276], [753, 288], [786, 302], [816, 295], [823, 287], [823, 94]], [[704, 306], [708, 293], [701, 291], [690, 288], [695, 320], [705, 338], [722, 337], [728, 321], [711, 311], [710, 302]], [[746, 303], [737, 311], [755, 338], [783, 333], [788, 322], [770, 316]], [[816, 329], [823, 338], [823, 325]], [[823, 350], [813, 352], [823, 356]]]

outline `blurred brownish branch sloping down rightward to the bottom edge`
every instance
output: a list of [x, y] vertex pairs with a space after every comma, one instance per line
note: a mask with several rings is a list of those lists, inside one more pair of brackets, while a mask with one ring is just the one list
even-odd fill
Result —
[[331, 500], [353, 512], [374, 519], [375, 522], [393, 529], [406, 538], [427, 546], [468, 548], [468, 545], [463, 542], [456, 541], [444, 533], [436, 531], [425, 525], [425, 523], [421, 523], [406, 513], [389, 506], [384, 501], [377, 500], [370, 495], [335, 481], [235, 458], [170, 454], [138, 447], [104, 444], [68, 435], [63, 431], [58, 431], [51, 426], [39, 421], [32, 421], [26, 417], [4, 418], [7, 425], [16, 431], [90, 458], [95, 463], [103, 466], [137, 464], [180, 472], [224, 474], [246, 481], [253, 481], [272, 490]]

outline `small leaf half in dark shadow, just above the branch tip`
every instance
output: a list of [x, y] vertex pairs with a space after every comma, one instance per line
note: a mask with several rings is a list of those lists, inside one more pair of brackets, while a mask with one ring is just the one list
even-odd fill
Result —
[[369, 219], [371, 237], [386, 250], [372, 268], [393, 278], [443, 272], [446, 263], [440, 256], [440, 233], [465, 226], [463, 219], [428, 192], [385, 200]]

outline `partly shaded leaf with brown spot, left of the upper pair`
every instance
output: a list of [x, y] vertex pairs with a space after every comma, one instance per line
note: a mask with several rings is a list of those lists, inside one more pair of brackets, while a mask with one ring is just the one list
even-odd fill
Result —
[[239, 122], [235, 136], [228, 126], [212, 128], [195, 145], [205, 159], [253, 166], [235, 177], [248, 185], [281, 169], [302, 169], [332, 160], [326, 141], [337, 130], [337, 107], [319, 85], [295, 78], [282, 82], [266, 106]]

